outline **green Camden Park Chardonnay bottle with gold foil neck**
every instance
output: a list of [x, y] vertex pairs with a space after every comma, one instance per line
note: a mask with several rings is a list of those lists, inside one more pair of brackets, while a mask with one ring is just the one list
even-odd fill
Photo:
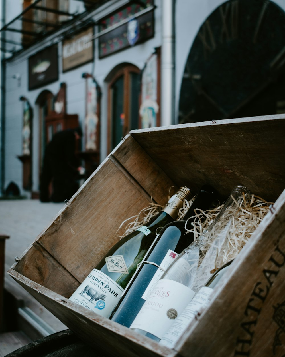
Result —
[[156, 238], [156, 231], [178, 217], [190, 190], [182, 186], [146, 226], [119, 240], [74, 291], [69, 300], [109, 317], [138, 264]]

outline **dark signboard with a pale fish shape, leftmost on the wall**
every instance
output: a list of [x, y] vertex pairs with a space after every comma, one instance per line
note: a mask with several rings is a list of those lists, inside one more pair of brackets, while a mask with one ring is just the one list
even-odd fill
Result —
[[58, 80], [57, 45], [45, 48], [28, 59], [28, 89], [35, 89]]

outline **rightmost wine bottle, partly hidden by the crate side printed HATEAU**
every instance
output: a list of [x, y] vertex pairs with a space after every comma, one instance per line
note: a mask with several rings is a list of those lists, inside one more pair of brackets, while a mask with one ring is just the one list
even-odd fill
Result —
[[174, 348], [178, 338], [190, 327], [191, 322], [201, 314], [211, 301], [211, 296], [214, 287], [218, 284], [221, 277], [226, 273], [233, 260], [229, 261], [221, 268], [214, 272], [213, 276], [207, 281], [206, 285], [202, 287], [191, 302], [182, 311], [181, 315], [174, 320], [169, 330], [165, 333], [159, 341], [161, 345], [168, 348]]

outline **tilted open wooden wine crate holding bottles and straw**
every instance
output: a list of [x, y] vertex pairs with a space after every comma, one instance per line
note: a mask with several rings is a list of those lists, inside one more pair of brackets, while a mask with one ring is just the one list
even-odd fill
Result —
[[[131, 131], [9, 274], [94, 349], [126, 357], [285, 355], [285, 114]], [[119, 239], [120, 223], [169, 188], [242, 184], [275, 204], [177, 351], [68, 300]], [[275, 353], [275, 354], [274, 354]]]

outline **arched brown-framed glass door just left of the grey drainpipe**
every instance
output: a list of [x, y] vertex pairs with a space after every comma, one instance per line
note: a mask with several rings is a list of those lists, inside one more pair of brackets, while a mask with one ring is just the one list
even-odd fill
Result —
[[129, 63], [116, 66], [108, 82], [108, 151], [121, 137], [139, 127], [140, 69]]

